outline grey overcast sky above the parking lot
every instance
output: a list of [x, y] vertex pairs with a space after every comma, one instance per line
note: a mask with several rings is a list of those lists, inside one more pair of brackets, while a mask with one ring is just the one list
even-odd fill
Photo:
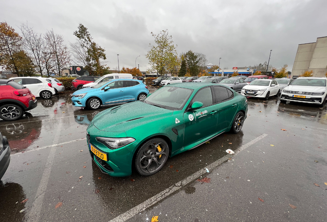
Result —
[[[20, 33], [28, 22], [38, 33], [53, 29], [69, 46], [79, 23], [106, 52], [112, 69], [149, 65], [145, 54], [155, 34], [168, 29], [178, 54], [192, 50], [221, 67], [253, 66], [268, 61], [292, 71], [298, 44], [327, 36], [326, 0], [215, 1], [45, 1], [0, 0], [0, 22]], [[74, 65], [74, 64], [72, 64]], [[80, 65], [80, 64], [79, 64]]]

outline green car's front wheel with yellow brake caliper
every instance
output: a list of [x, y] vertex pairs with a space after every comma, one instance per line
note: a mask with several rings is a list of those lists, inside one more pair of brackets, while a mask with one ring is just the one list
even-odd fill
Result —
[[[159, 151], [160, 150], [160, 151]], [[169, 145], [161, 138], [154, 138], [144, 143], [135, 158], [135, 168], [142, 176], [159, 172], [167, 162]]]

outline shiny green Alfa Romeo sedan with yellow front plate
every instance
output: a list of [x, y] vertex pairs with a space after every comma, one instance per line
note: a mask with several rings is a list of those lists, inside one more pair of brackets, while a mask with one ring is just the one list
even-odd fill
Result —
[[129, 176], [157, 173], [168, 157], [191, 150], [224, 132], [240, 132], [247, 99], [227, 86], [176, 83], [146, 100], [99, 113], [87, 128], [92, 159], [102, 172]]

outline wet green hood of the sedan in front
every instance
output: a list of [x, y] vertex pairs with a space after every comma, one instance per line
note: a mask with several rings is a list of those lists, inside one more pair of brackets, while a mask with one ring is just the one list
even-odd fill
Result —
[[106, 109], [92, 121], [100, 131], [125, 132], [148, 122], [162, 120], [173, 114], [173, 110], [136, 101]]

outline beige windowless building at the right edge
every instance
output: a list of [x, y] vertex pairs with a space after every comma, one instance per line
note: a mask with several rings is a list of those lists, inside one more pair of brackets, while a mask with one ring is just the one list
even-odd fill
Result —
[[305, 71], [313, 70], [314, 77], [325, 77], [327, 72], [327, 36], [317, 38], [314, 43], [299, 44], [291, 73], [297, 78]]

